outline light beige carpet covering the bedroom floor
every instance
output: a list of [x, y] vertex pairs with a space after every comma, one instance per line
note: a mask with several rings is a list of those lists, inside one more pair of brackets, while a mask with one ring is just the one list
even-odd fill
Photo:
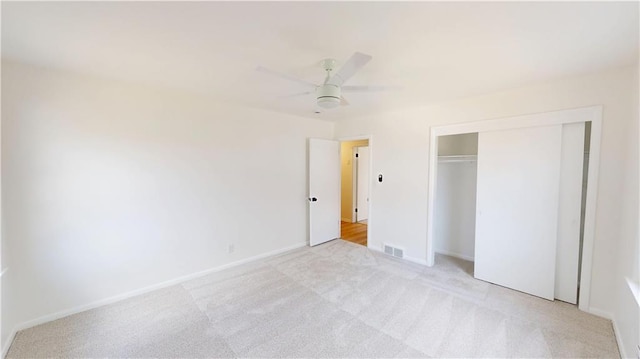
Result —
[[336, 240], [21, 331], [8, 358], [619, 358], [611, 323]]

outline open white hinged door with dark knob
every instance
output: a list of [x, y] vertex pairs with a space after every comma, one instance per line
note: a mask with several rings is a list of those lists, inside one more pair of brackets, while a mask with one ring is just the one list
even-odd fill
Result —
[[340, 143], [309, 139], [309, 245], [340, 237]]

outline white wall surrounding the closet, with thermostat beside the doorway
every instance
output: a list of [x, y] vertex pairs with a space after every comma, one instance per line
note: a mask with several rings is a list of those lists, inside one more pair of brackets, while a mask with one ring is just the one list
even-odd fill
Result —
[[602, 153], [593, 255], [591, 310], [607, 315], [615, 308], [620, 202], [626, 168], [620, 161], [628, 142], [628, 123], [638, 108], [630, 93], [635, 67], [566, 78], [449, 103], [341, 121], [336, 136], [371, 134], [372, 171], [385, 181], [371, 188], [369, 243], [391, 240], [414, 260], [426, 260], [429, 128], [490, 118], [603, 105]]

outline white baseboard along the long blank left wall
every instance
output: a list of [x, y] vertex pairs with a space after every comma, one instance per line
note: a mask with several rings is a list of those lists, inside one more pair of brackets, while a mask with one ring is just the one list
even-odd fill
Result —
[[64, 318], [64, 317], [68, 317], [70, 315], [73, 314], [77, 314], [77, 313], [81, 313], [90, 309], [95, 309], [98, 307], [102, 307], [105, 305], [109, 305], [109, 304], [113, 304], [113, 303], [117, 303], [120, 301], [123, 301], [125, 299], [129, 299], [138, 295], [142, 295], [142, 294], [146, 294], [149, 292], [152, 292], [154, 290], [158, 290], [158, 289], [163, 289], [163, 288], [167, 288], [176, 284], [180, 284], [183, 282], [186, 282], [188, 280], [191, 279], [195, 279], [195, 278], [199, 278], [202, 276], [205, 276], [207, 274], [211, 274], [211, 273], [215, 273], [215, 272], [219, 272], [225, 269], [229, 269], [229, 268], [233, 268], [233, 267], [237, 267], [239, 265], [242, 264], [246, 264], [246, 263], [250, 263], [250, 262], [254, 262], [266, 257], [271, 257], [277, 254], [281, 254], [281, 253], [285, 253], [285, 252], [289, 252], [292, 251], [294, 249], [297, 248], [301, 248], [301, 247], [305, 247], [307, 246], [307, 242], [302, 242], [302, 243], [298, 243], [298, 244], [294, 244], [292, 246], [288, 246], [288, 247], [284, 247], [284, 248], [280, 248], [280, 249], [276, 249], [274, 251], [270, 251], [270, 252], [266, 252], [266, 253], [262, 253], [262, 254], [258, 254], [256, 256], [253, 257], [248, 257], [245, 259], [241, 259], [235, 262], [231, 262], [231, 263], [227, 263], [218, 267], [213, 267], [213, 268], [209, 268], [209, 269], [205, 269], [203, 271], [200, 272], [196, 272], [196, 273], [192, 273], [192, 274], [187, 274], [185, 276], [182, 277], [178, 277], [178, 278], [174, 278], [174, 279], [170, 279], [168, 281], [164, 281], [158, 284], [154, 284], [154, 285], [150, 285], [148, 287], [144, 287], [144, 288], [140, 288], [140, 289], [136, 289], [130, 292], [126, 292], [123, 294], [118, 294], [115, 295], [113, 297], [109, 297], [109, 298], [105, 298], [105, 299], [100, 299], [85, 305], [81, 305], [75, 308], [70, 308], [70, 309], [65, 309], [65, 310], [61, 310], [59, 312], [55, 312], [52, 314], [48, 314], [36, 319], [32, 319], [29, 321], [26, 321], [24, 323], [18, 324], [12, 331], [11, 331], [11, 335], [9, 335], [9, 337], [7, 338], [6, 342], [3, 343], [2, 345], [2, 358], [5, 358], [7, 353], [9, 352], [9, 348], [11, 347], [11, 344], [13, 343], [13, 339], [15, 338], [16, 334], [21, 331], [21, 330], [25, 330], [25, 329], [29, 329], [31, 327], [35, 327], [36, 325], [40, 325], [40, 324], [44, 324], [47, 322], [51, 322], [60, 318]]

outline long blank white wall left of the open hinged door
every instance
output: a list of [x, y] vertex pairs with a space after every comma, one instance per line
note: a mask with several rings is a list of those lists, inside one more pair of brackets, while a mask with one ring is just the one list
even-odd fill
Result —
[[10, 62], [2, 75], [3, 343], [51, 313], [306, 243], [306, 139], [332, 123]]

